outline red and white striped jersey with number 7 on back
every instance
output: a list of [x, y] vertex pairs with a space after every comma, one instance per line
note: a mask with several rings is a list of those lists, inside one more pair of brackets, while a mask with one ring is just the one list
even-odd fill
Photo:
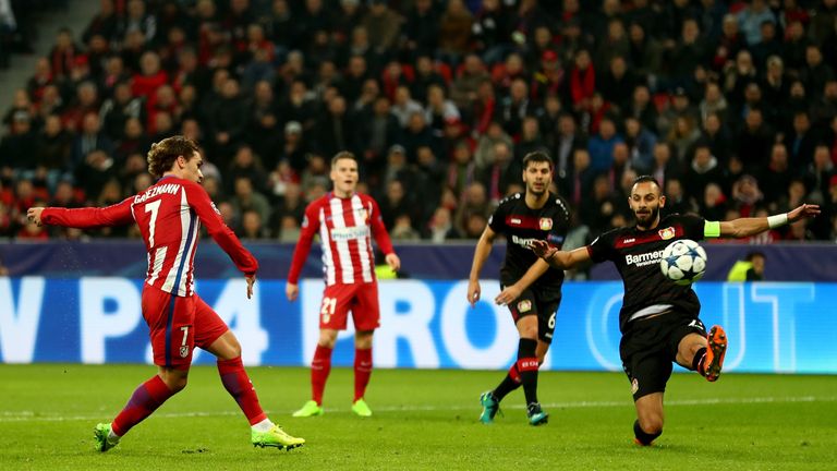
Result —
[[105, 208], [49, 207], [41, 214], [48, 225], [75, 228], [122, 226], [136, 221], [148, 252], [145, 282], [180, 297], [194, 291], [194, 259], [201, 224], [245, 275], [258, 263], [221, 219], [203, 186], [177, 177]]

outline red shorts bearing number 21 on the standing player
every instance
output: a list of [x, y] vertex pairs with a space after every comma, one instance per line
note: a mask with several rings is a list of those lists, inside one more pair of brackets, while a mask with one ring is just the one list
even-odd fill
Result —
[[319, 309], [319, 328], [345, 330], [349, 311], [355, 330], [374, 330], [380, 326], [378, 283], [327, 286]]

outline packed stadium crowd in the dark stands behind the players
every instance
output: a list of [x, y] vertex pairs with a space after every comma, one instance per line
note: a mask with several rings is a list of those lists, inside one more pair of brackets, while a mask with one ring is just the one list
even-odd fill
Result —
[[751, 242], [837, 241], [834, 64], [837, 0], [101, 0], [4, 89], [0, 237], [135, 237], [26, 208], [117, 203], [184, 134], [245, 240], [296, 241], [343, 149], [395, 240], [475, 239], [546, 149], [570, 245], [645, 173], [668, 212], [824, 209]]

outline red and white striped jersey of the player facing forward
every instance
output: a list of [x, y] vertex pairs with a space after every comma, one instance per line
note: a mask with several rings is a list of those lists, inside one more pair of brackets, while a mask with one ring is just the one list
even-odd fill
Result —
[[348, 198], [340, 198], [329, 192], [305, 208], [288, 282], [299, 282], [302, 266], [317, 233], [323, 246], [323, 271], [327, 286], [375, 281], [373, 237], [385, 254], [395, 252], [378, 204], [372, 196], [354, 193]]

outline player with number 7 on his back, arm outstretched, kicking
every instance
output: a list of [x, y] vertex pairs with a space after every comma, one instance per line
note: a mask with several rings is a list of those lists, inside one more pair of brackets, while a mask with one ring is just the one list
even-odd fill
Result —
[[194, 292], [194, 256], [201, 225], [232, 258], [253, 295], [258, 263], [223, 224], [201, 181], [204, 160], [197, 145], [182, 136], [168, 137], [148, 152], [148, 171], [159, 181], [146, 191], [105, 208], [29, 208], [29, 220], [94, 228], [136, 222], [148, 252], [143, 285], [143, 317], [150, 329], [158, 372], [136, 388], [128, 404], [109, 424], [95, 430], [96, 448], [107, 451], [131, 427], [186, 386], [194, 347], [218, 358], [218, 373], [227, 391], [251, 424], [254, 446], [293, 448], [305, 443], [275, 425], [258, 403], [241, 361], [241, 345], [227, 324]]

